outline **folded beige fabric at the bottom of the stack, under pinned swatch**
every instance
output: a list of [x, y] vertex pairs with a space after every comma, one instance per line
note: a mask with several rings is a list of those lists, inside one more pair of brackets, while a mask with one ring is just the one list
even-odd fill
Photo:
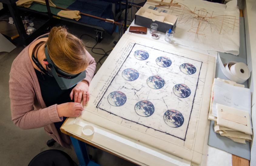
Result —
[[244, 132], [229, 129], [227, 127], [219, 126], [217, 125], [216, 122], [214, 122], [214, 132], [219, 133], [221, 136], [232, 139], [234, 142], [238, 142], [238, 143], [245, 144], [245, 141], [252, 140], [251, 135], [245, 134]]

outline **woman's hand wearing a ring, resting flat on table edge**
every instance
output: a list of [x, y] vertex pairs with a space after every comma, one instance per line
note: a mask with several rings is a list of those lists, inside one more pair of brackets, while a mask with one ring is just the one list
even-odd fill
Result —
[[70, 93], [70, 99], [73, 100], [76, 103], [81, 103], [83, 100], [83, 106], [85, 106], [86, 103], [89, 101], [89, 85], [87, 81], [82, 80], [79, 82], [75, 88], [72, 89]]

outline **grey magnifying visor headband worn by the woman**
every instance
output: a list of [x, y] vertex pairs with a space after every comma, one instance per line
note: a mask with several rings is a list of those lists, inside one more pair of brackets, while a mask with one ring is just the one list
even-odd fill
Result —
[[49, 72], [49, 74], [51, 74], [55, 78], [59, 87], [62, 90], [72, 88], [74, 85], [76, 85], [78, 82], [82, 81], [86, 77], [86, 71], [80, 72], [78, 74], [69, 74], [59, 69], [52, 62], [49, 56], [46, 44], [45, 44], [45, 57], [48, 62], [48, 65], [46, 65], [47, 71]]

